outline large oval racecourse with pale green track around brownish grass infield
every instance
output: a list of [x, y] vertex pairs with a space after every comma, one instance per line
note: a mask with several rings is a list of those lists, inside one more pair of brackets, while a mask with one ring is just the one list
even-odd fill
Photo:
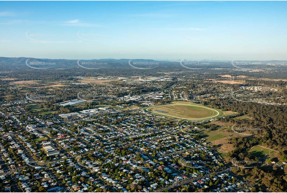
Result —
[[173, 117], [184, 120], [208, 120], [222, 116], [222, 111], [195, 103], [171, 103], [145, 108], [157, 115]]

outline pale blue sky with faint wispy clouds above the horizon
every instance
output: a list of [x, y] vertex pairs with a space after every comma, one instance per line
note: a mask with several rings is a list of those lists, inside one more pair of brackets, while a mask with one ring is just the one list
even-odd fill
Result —
[[287, 2], [0, 2], [0, 56], [287, 60]]

